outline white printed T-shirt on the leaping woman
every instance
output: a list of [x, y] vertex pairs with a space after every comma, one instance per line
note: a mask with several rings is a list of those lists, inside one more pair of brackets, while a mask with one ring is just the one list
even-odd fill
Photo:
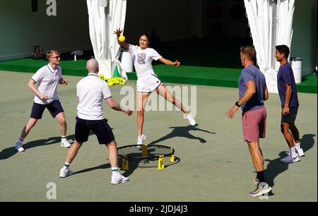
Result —
[[137, 45], [129, 44], [128, 52], [131, 54], [134, 61], [137, 78], [155, 73], [151, 63], [153, 60], [157, 61], [161, 58], [160, 54], [158, 54], [155, 49], [149, 47], [141, 49]]

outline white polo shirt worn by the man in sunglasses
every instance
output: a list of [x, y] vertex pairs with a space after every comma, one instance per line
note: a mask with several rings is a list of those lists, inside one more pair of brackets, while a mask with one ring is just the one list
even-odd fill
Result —
[[59, 80], [63, 78], [61, 74], [61, 67], [57, 66], [56, 70], [47, 64], [42, 66], [35, 74], [33, 74], [32, 79], [37, 83], [37, 90], [42, 94], [49, 97], [47, 100], [41, 100], [40, 97], [35, 95], [34, 102], [37, 104], [50, 104], [54, 100], [59, 100], [59, 95], [57, 95], [57, 85], [59, 85]]

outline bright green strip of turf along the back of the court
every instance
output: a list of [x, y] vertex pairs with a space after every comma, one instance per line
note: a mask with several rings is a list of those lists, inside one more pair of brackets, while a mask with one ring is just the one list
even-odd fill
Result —
[[[61, 61], [64, 75], [86, 76], [86, 61]], [[38, 68], [47, 64], [44, 60], [18, 59], [1, 61], [0, 70], [35, 73]], [[237, 80], [242, 68], [216, 68], [208, 66], [181, 66], [179, 68], [157, 64], [153, 66], [160, 80], [167, 83], [190, 85], [211, 85], [237, 88]], [[129, 80], [136, 80], [136, 73], [127, 73]], [[317, 75], [305, 76], [297, 85], [299, 92], [317, 93]]]

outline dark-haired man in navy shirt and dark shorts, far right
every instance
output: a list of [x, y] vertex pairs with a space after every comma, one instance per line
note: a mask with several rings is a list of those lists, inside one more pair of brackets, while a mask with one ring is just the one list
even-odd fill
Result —
[[286, 45], [276, 46], [276, 61], [281, 64], [277, 74], [277, 87], [282, 107], [281, 133], [290, 148], [290, 151], [286, 152], [286, 157], [281, 160], [283, 163], [299, 162], [299, 157], [305, 156], [304, 151], [300, 148], [299, 132], [295, 126], [299, 102], [293, 69], [287, 60], [289, 53]]

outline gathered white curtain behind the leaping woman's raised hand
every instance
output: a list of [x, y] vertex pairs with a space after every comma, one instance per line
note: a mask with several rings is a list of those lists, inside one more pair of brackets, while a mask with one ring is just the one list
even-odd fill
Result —
[[86, 0], [90, 28], [90, 41], [95, 59], [100, 65], [99, 74], [111, 78], [114, 67], [126, 78], [119, 62], [120, 46], [117, 36], [113, 34], [117, 28], [124, 29], [126, 18], [126, 0]]

